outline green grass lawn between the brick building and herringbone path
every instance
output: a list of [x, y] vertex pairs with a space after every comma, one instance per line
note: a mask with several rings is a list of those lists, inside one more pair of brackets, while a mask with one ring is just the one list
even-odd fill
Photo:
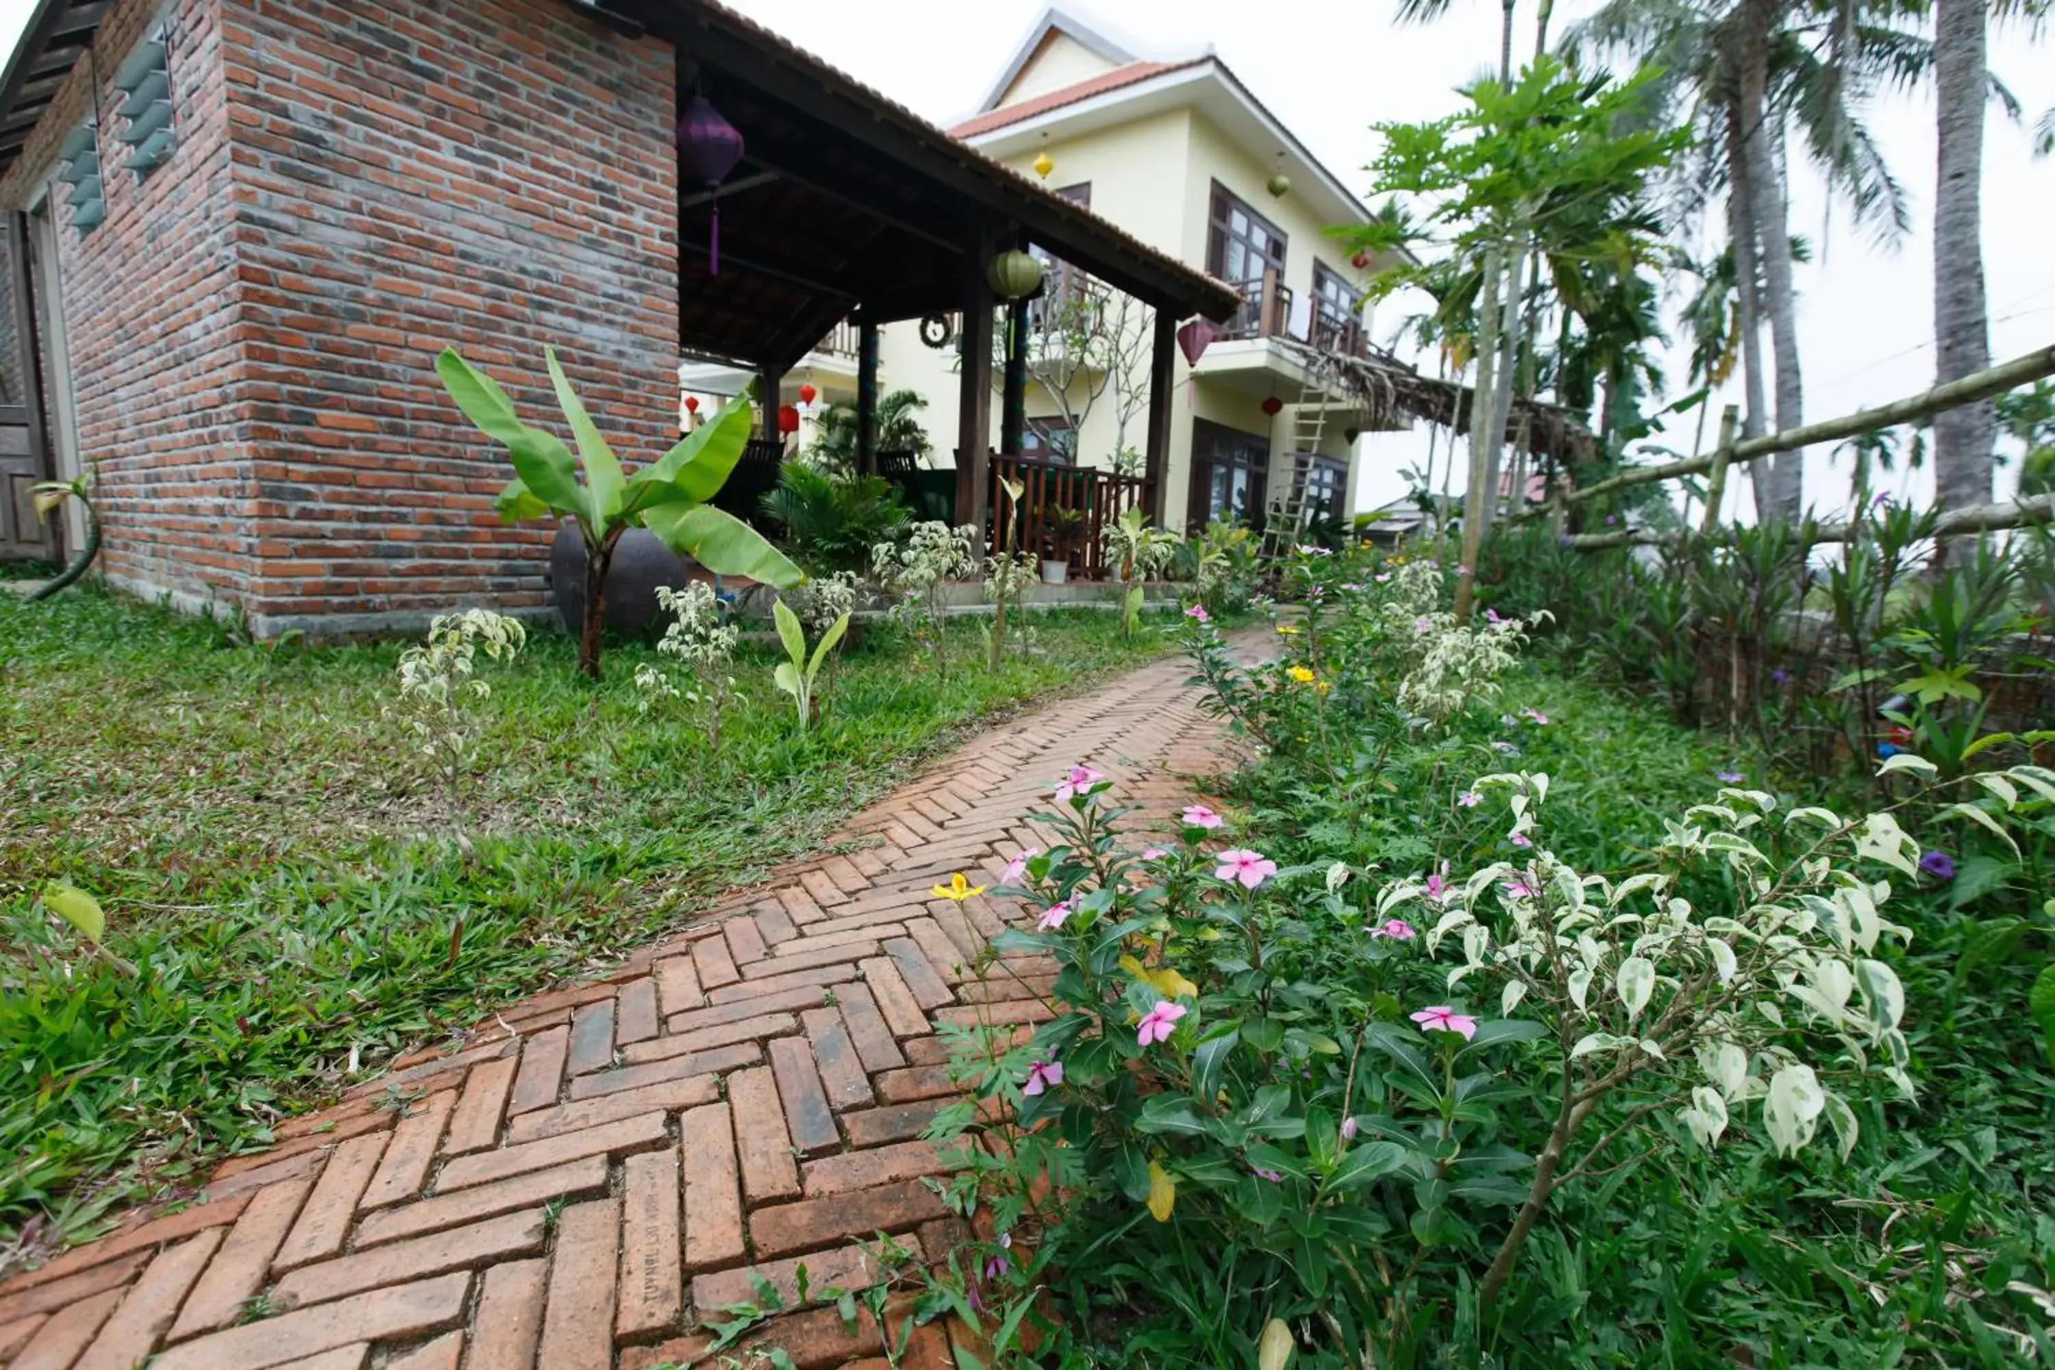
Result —
[[[999, 672], [958, 622], [947, 680], [869, 624], [806, 737], [744, 647], [719, 754], [674, 705], [641, 713], [653, 649], [610, 647], [592, 686], [538, 631], [514, 665], [481, 657], [479, 760], [450, 785], [388, 713], [399, 643], [271, 651], [99, 592], [0, 594], [0, 1267], [25, 1220], [76, 1234], [263, 1142], [818, 846], [976, 725], [1165, 645], [1097, 610], [1036, 622]], [[37, 908], [55, 877], [103, 902], [125, 965]]]

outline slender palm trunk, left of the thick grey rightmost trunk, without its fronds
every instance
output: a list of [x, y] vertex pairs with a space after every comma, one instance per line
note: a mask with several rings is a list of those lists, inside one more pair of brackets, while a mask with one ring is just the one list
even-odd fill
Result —
[[[1798, 372], [1798, 298], [1792, 286], [1792, 236], [1784, 203], [1780, 140], [1769, 111], [1769, 33], [1773, 0], [1745, 0], [1741, 35], [1741, 158], [1749, 168], [1755, 244], [1763, 259], [1763, 310], [1776, 359], [1778, 431], [1804, 423], [1804, 382]], [[1804, 507], [1804, 450], [1780, 452], [1771, 470], [1773, 518], [1798, 522]]]

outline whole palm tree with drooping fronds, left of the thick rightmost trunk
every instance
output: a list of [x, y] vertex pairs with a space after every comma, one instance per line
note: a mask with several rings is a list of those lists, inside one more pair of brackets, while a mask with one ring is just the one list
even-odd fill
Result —
[[[1769, 325], [1778, 427], [1804, 421], [1796, 286], [1786, 181], [1786, 127], [1845, 199], [1856, 220], [1893, 238], [1909, 228], [1905, 193], [1868, 129], [1862, 103], [1880, 86], [1905, 86], [1932, 68], [1932, 45], [1868, 18], [1847, 0], [1609, 0], [1580, 23], [1566, 51], [1630, 53], [1658, 68], [1648, 119], [1687, 121], [1697, 156], [1679, 162], [1683, 212], [1726, 195], [1739, 283], [1747, 435], [1767, 427], [1759, 331]], [[1757, 509], [1796, 520], [1804, 454], [1751, 464]]]

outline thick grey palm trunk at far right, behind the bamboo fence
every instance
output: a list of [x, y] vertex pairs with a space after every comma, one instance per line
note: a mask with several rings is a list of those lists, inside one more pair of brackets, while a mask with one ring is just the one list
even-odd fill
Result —
[[[1934, 343], [1936, 384], [1991, 364], [1983, 292], [1983, 0], [1936, 0], [1934, 84], [1940, 107], [1940, 156], [1934, 197]], [[1942, 507], [1991, 499], [1991, 446], [1997, 415], [1989, 401], [1934, 417], [1934, 485]]]

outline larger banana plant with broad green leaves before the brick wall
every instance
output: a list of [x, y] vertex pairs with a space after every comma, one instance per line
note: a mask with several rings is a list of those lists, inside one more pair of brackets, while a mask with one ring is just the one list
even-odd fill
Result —
[[[577, 641], [577, 670], [600, 678], [600, 626], [606, 622], [606, 571], [614, 544], [629, 528], [647, 528], [680, 557], [690, 557], [715, 575], [748, 575], [779, 589], [806, 579], [762, 534], [713, 499], [742, 460], [750, 440], [752, 407], [734, 401], [709, 423], [684, 435], [678, 446], [647, 466], [623, 474], [621, 458], [606, 446], [592, 415], [571, 390], [557, 349], [543, 349], [557, 405], [577, 437], [577, 456], [555, 433], [528, 427], [514, 415], [514, 401], [485, 372], [464, 361], [456, 349], [436, 357], [436, 374], [456, 407], [487, 437], [501, 442], [514, 458], [514, 479], [499, 491], [495, 507], [508, 524], [530, 518], [573, 518], [586, 538], [586, 622]], [[580, 483], [584, 468], [584, 483]]]

